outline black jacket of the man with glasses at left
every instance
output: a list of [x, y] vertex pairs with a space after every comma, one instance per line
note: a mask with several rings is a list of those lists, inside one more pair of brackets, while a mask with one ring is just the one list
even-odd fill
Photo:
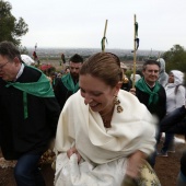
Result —
[[[16, 82], [35, 82], [42, 72], [25, 67]], [[0, 147], [7, 160], [23, 153], [40, 154], [56, 135], [60, 114], [56, 97], [27, 94], [28, 117], [24, 118], [23, 92], [0, 79]]]

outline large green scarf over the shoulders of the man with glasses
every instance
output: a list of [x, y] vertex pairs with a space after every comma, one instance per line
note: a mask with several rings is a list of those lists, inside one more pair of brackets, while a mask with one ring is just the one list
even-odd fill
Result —
[[[27, 66], [30, 67], [30, 66]], [[31, 67], [33, 68], [33, 67]], [[34, 68], [36, 69], [36, 68]], [[38, 70], [38, 69], [36, 69]], [[38, 70], [39, 71], [39, 70]], [[24, 104], [24, 118], [28, 117], [27, 112], [27, 93], [38, 97], [55, 97], [51, 84], [47, 77], [40, 72], [42, 75], [37, 82], [21, 83], [21, 82], [7, 82], [7, 88], [13, 86], [20, 91], [23, 91], [23, 104]]]

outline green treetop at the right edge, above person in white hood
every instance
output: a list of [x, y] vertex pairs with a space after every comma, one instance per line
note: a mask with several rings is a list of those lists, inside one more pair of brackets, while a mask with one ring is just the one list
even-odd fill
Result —
[[186, 51], [181, 45], [174, 45], [162, 57], [166, 61], [166, 71], [176, 69], [186, 72]]

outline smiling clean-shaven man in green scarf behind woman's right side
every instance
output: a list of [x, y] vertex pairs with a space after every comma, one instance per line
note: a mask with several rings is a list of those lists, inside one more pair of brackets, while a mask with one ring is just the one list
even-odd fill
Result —
[[[135, 89], [131, 89], [130, 92], [133, 93], [160, 121], [166, 114], [166, 94], [164, 88], [158, 82], [159, 72], [160, 63], [155, 60], [147, 60], [142, 67], [143, 78], [136, 83]], [[156, 130], [156, 143], [159, 143], [159, 140], [160, 125], [158, 125]], [[149, 159], [152, 167], [155, 164], [155, 156], [156, 152]]]

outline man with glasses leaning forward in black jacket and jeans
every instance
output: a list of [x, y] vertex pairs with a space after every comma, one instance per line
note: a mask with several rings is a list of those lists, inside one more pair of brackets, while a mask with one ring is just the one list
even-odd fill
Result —
[[37, 163], [56, 135], [60, 114], [50, 82], [25, 66], [19, 49], [0, 43], [0, 147], [5, 160], [18, 160], [18, 186], [45, 186]]

